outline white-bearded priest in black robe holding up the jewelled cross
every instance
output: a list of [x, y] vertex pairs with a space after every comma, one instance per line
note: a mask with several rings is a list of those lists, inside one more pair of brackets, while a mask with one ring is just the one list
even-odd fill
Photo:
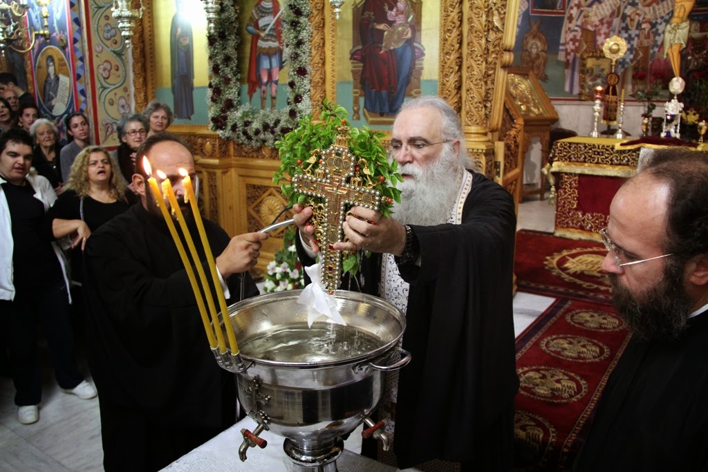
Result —
[[[389, 375], [378, 407], [400, 468], [434, 460], [435, 470], [452, 470], [453, 462], [500, 471], [513, 461], [514, 203], [501, 186], [465, 170], [462, 143], [459, 117], [444, 100], [406, 102], [391, 140], [404, 177], [401, 205], [393, 219], [354, 207], [343, 224], [348, 242], [333, 246], [374, 253], [358, 282], [344, 280], [342, 288], [360, 285], [406, 313], [403, 348], [413, 359], [397, 382]], [[309, 265], [319, 251], [305, 225], [312, 209], [295, 211], [299, 255]]]

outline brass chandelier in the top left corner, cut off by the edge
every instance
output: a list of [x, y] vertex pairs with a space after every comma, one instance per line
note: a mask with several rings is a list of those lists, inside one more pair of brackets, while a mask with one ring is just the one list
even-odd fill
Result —
[[9, 47], [17, 52], [25, 53], [35, 45], [38, 36], [45, 38], [49, 42], [49, 8], [52, 0], [37, 0], [37, 6], [41, 8], [44, 24], [41, 30], [28, 30], [25, 26], [27, 12], [30, 5], [27, 0], [20, 0], [19, 3], [12, 1], [10, 4], [0, 4], [0, 51], [4, 54]]

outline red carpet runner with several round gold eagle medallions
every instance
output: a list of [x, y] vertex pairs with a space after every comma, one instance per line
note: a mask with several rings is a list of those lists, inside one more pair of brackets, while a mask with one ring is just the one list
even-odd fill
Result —
[[567, 471], [629, 341], [605, 303], [557, 300], [516, 340], [515, 466]]

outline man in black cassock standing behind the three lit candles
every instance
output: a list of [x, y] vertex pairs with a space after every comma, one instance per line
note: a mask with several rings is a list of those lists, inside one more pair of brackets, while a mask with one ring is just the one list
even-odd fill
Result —
[[[209, 274], [178, 174], [184, 168], [194, 179], [192, 154], [178, 137], [160, 133], [138, 155], [171, 180]], [[103, 224], [84, 256], [86, 343], [108, 472], [167, 466], [236, 420], [234, 377], [217, 366], [181, 258], [138, 164], [132, 183], [142, 205]], [[238, 301], [236, 274], [256, 264], [267, 235], [229, 238], [217, 224], [204, 225], [212, 253], [219, 254], [227, 301]], [[258, 289], [245, 275], [252, 297]]]

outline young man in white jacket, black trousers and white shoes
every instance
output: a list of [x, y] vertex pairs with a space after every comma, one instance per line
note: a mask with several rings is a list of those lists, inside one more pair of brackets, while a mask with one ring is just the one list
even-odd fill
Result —
[[91, 231], [80, 219], [54, 219], [57, 194], [42, 175], [30, 175], [32, 138], [24, 129], [0, 134], [0, 325], [8, 333], [19, 422], [39, 419], [42, 399], [37, 323], [42, 324], [59, 387], [79, 398], [96, 396], [74, 359], [69, 280], [56, 238], [84, 248]]

